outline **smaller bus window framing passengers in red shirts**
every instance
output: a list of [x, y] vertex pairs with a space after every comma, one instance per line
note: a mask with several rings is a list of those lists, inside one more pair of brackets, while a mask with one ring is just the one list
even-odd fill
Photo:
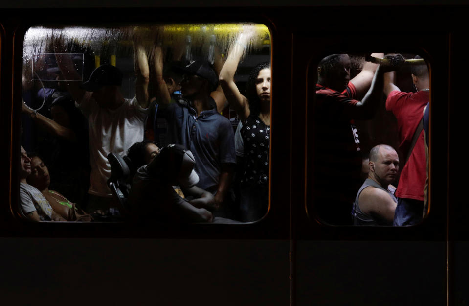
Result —
[[308, 211], [330, 225], [419, 223], [428, 211], [424, 59], [332, 54], [316, 74]]

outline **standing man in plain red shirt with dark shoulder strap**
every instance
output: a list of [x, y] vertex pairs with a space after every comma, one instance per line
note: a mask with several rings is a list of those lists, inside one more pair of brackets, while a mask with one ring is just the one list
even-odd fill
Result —
[[[384, 86], [384, 94], [387, 96], [386, 110], [392, 111], [397, 118], [401, 141], [399, 148], [404, 155], [411, 149], [412, 137], [430, 99], [430, 79], [426, 65], [412, 66], [411, 73], [417, 90], [415, 93], [401, 92], [393, 83], [394, 73], [386, 74]], [[394, 214], [394, 226], [411, 225], [422, 220], [425, 180], [424, 132], [421, 131], [408, 161], [402, 168], [395, 193], [398, 204]]]

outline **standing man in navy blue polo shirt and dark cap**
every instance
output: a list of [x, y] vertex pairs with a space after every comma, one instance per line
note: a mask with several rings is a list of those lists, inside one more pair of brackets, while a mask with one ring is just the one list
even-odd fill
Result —
[[192, 61], [179, 67], [182, 99], [160, 102], [160, 112], [168, 121], [169, 143], [182, 144], [195, 158], [198, 187], [215, 194], [216, 206], [225, 200], [233, 176], [236, 155], [233, 128], [217, 111], [225, 96], [218, 77], [208, 62]]

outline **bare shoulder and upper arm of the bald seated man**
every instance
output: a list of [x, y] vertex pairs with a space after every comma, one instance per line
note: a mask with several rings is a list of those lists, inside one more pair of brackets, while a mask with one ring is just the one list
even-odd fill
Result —
[[386, 191], [367, 187], [361, 191], [358, 205], [362, 212], [376, 216], [388, 224], [393, 223], [397, 204]]

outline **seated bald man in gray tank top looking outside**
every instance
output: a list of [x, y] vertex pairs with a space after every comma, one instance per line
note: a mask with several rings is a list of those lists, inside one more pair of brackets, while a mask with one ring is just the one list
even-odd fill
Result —
[[371, 149], [369, 164], [368, 178], [358, 190], [352, 209], [354, 225], [392, 225], [397, 199], [390, 184], [399, 171], [399, 156], [391, 146], [379, 144]]

